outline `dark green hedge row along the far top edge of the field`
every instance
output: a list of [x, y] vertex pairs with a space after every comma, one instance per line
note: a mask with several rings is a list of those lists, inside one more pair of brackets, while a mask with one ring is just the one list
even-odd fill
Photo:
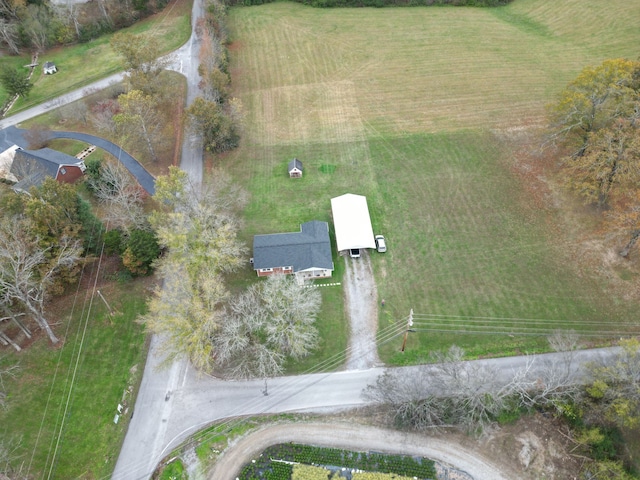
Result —
[[[227, 0], [229, 5], [262, 5], [273, 0]], [[318, 8], [331, 7], [430, 7], [453, 5], [456, 7], [499, 7], [513, 0], [294, 0]]]

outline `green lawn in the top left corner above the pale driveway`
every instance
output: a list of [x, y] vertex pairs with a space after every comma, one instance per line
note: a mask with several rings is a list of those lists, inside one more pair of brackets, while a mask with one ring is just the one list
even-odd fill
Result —
[[[121, 31], [153, 35], [158, 39], [162, 52], [171, 52], [189, 39], [192, 3], [191, 0], [172, 0], [162, 12]], [[33, 107], [121, 71], [121, 59], [109, 45], [111, 36], [104, 35], [87, 43], [56, 47], [41, 54], [39, 63], [42, 65], [45, 61], [54, 62], [58, 67], [58, 73], [44, 75], [41, 67], [36, 68], [31, 79], [34, 84], [31, 93], [26, 99], [19, 98], [9, 114]], [[31, 57], [28, 54], [22, 57], [0, 58], [0, 68], [5, 65], [17, 68], [29, 63]], [[6, 98], [1, 86], [0, 98]]]

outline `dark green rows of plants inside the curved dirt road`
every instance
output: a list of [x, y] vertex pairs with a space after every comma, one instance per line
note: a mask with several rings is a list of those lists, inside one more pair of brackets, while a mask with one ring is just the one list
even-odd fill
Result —
[[267, 448], [257, 459], [242, 468], [239, 478], [289, 480], [292, 466], [273, 460], [395, 473], [422, 479], [435, 478], [436, 475], [434, 462], [426, 458], [285, 443]]

